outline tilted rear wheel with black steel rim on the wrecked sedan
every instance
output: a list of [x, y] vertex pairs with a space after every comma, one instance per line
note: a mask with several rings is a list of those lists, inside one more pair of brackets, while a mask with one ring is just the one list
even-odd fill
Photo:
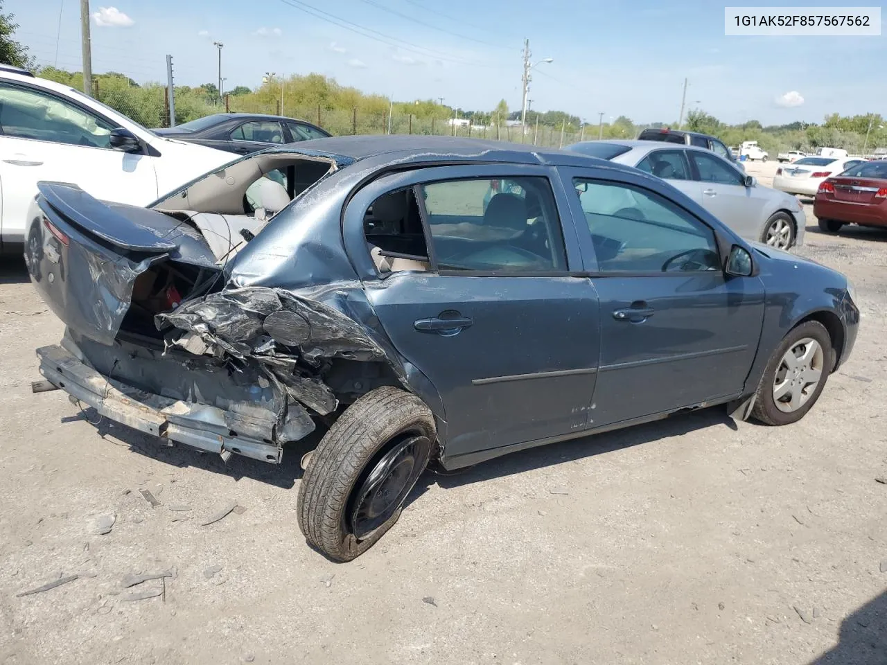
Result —
[[351, 404], [302, 475], [297, 512], [308, 543], [335, 561], [366, 552], [400, 517], [435, 440], [434, 416], [416, 395], [385, 386]]

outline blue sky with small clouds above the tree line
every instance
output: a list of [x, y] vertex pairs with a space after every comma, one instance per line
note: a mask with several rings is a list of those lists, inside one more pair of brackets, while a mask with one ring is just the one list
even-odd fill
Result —
[[[887, 37], [726, 37], [724, 4], [90, 0], [91, 12], [99, 14], [91, 28], [93, 70], [165, 81], [170, 53], [178, 83], [216, 82], [213, 42], [221, 41], [226, 89], [255, 87], [266, 71], [318, 72], [396, 100], [443, 97], [447, 105], [491, 110], [505, 98], [517, 109], [527, 37], [534, 62], [553, 58], [533, 76], [532, 107], [566, 110], [593, 123], [599, 112], [638, 123], [675, 121], [685, 76], [687, 107], [726, 122], [887, 115]], [[377, 39], [311, 16], [300, 5]], [[80, 69], [77, 0], [5, 0], [4, 11], [16, 14], [19, 40], [41, 64]], [[797, 95], [784, 97], [792, 92]]]

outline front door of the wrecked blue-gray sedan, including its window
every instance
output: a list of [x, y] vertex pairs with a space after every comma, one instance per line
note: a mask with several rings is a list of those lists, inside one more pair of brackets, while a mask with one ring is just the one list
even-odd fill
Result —
[[[760, 280], [726, 277], [712, 229], [655, 192], [575, 184], [585, 189], [598, 263], [600, 366], [589, 425], [739, 395], [764, 316]], [[614, 214], [613, 200], [632, 205]]]

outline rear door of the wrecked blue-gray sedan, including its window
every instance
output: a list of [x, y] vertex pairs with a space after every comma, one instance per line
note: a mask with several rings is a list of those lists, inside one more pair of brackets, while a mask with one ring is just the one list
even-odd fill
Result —
[[[586, 426], [597, 298], [552, 176], [541, 166], [429, 168], [377, 181], [346, 211], [346, 225], [393, 259], [377, 272], [367, 240], [351, 246], [358, 266], [372, 266], [366, 291], [389, 339], [441, 395], [447, 457]], [[522, 195], [498, 193], [484, 207], [493, 179]]]

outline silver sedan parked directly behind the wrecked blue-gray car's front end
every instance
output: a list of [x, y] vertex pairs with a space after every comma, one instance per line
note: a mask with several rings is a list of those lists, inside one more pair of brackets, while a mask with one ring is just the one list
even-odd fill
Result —
[[742, 238], [788, 249], [804, 244], [804, 207], [757, 184], [731, 162], [692, 145], [659, 141], [585, 141], [567, 150], [640, 168], [667, 180]]

